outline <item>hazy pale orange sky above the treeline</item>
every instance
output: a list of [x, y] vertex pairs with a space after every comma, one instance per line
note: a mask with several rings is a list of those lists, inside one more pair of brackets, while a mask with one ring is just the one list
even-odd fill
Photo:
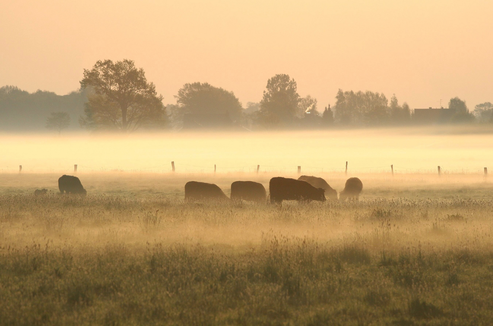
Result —
[[133, 59], [164, 96], [186, 82], [257, 102], [287, 73], [301, 96], [395, 93], [411, 108], [493, 102], [493, 1], [0, 0], [0, 85], [66, 94], [99, 59]]

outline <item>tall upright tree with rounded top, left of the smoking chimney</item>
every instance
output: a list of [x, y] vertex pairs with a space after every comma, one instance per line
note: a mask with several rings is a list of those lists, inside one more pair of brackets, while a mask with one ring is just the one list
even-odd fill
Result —
[[300, 96], [296, 81], [287, 74], [277, 74], [267, 81], [260, 110], [259, 123], [266, 127], [290, 125], [299, 112]]

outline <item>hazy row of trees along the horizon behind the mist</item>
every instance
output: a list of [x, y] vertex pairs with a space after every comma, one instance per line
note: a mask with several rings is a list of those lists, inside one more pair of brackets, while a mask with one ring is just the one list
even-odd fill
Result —
[[[351, 126], [405, 126], [413, 123], [413, 110], [393, 95], [339, 89], [335, 104], [324, 109], [317, 99], [297, 92], [294, 78], [276, 74], [267, 81], [262, 100], [244, 107], [232, 91], [209, 83], [186, 83], [175, 95], [176, 104], [163, 105], [155, 85], [132, 60], [98, 61], [84, 69], [80, 89], [59, 96], [38, 90], [29, 93], [15, 86], [0, 88], [0, 129], [47, 128], [115, 130], [175, 129], [184, 116], [227, 115], [232, 125], [249, 130], [283, 128], [322, 129]], [[470, 111], [458, 97], [449, 101], [450, 123], [493, 122], [493, 104], [478, 104]], [[214, 115], [214, 116], [215, 116]], [[200, 125], [200, 122], [198, 122]], [[218, 125], [220, 126], [220, 125]], [[224, 124], [221, 125], [224, 127]]]

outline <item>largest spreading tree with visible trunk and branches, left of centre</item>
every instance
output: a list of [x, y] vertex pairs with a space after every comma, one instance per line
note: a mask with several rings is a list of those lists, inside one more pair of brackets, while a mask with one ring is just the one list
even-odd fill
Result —
[[132, 60], [97, 61], [91, 70], [84, 69], [80, 86], [94, 88], [79, 119], [84, 128], [132, 132], [166, 124], [163, 97]]

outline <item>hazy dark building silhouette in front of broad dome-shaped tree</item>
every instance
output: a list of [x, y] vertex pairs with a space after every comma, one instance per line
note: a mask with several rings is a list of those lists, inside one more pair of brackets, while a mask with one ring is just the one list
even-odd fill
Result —
[[248, 130], [231, 120], [228, 113], [185, 113], [182, 130], [194, 129]]

